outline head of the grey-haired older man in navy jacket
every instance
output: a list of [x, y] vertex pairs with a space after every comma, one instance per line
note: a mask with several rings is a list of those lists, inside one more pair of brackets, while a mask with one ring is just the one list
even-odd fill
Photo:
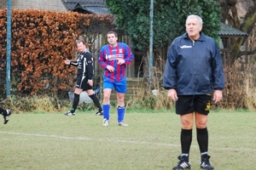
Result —
[[202, 29], [202, 25], [196, 18], [190, 18], [186, 22], [186, 31], [189, 37], [193, 40], [196, 40], [200, 37], [200, 31]]

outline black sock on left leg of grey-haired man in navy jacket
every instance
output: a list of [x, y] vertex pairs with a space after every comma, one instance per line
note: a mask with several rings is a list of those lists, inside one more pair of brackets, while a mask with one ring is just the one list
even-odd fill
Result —
[[182, 129], [180, 134], [182, 155], [188, 156], [189, 161], [189, 150], [192, 142], [192, 129]]

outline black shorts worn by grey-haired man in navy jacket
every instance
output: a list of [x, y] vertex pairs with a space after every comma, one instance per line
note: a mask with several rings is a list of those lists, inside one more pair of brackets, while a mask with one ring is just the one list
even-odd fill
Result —
[[179, 95], [176, 101], [176, 114], [185, 115], [191, 112], [198, 112], [208, 115], [211, 109], [212, 95]]

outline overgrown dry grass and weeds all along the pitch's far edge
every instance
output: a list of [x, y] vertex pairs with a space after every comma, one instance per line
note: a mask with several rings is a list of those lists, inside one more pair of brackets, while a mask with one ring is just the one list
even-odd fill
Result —
[[[160, 64], [163, 62], [158, 61]], [[223, 90], [223, 100], [218, 104], [212, 103], [212, 110], [230, 110], [230, 111], [256, 111], [256, 79], [254, 77], [255, 65], [248, 65], [237, 62], [236, 65], [224, 65], [225, 88]], [[128, 85], [129, 94], [125, 94], [125, 107], [132, 111], [174, 111], [175, 103], [167, 98], [167, 91], [160, 86], [162, 82], [162, 72], [160, 68], [154, 67], [155, 79], [152, 87], [154, 90], [148, 90], [147, 82], [132, 82]], [[115, 112], [116, 96], [111, 100], [112, 110]], [[57, 99], [52, 95], [39, 95], [20, 98], [12, 95], [2, 101], [4, 108], [9, 108], [15, 113], [27, 111], [68, 111], [70, 104], [65, 100]], [[82, 104], [78, 106], [78, 111], [96, 110], [93, 104]]]

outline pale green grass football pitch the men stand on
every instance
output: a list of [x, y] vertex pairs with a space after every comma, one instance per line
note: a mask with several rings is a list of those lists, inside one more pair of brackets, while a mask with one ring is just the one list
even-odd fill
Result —
[[[255, 169], [256, 113], [212, 111], [209, 155], [215, 169]], [[172, 169], [180, 154], [179, 116], [174, 112], [127, 111], [129, 127], [110, 125], [102, 116], [77, 112], [13, 114], [0, 125], [1, 170], [155, 170]], [[1, 120], [1, 119], [0, 119]], [[3, 123], [3, 122], [2, 122]], [[195, 128], [190, 149], [191, 169], [200, 169]]]

